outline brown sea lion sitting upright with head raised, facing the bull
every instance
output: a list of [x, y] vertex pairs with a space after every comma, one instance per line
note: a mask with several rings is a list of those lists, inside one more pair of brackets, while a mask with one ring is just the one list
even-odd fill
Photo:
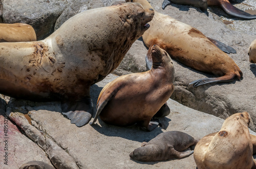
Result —
[[105, 123], [117, 126], [139, 124], [148, 131], [158, 126], [150, 122], [174, 91], [174, 66], [168, 53], [159, 46], [151, 49], [152, 69], [120, 76], [100, 92], [97, 112]]

